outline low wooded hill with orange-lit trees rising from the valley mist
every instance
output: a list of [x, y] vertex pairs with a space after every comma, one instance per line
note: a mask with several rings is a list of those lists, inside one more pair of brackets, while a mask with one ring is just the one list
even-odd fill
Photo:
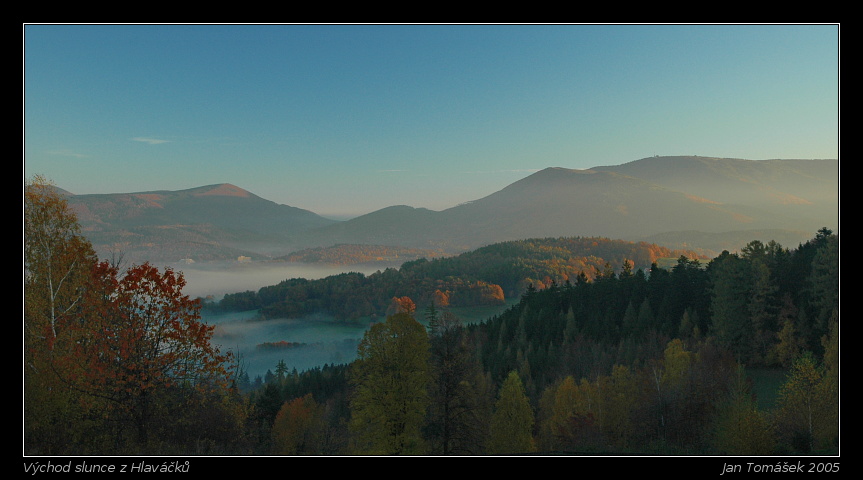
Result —
[[[383, 316], [396, 297], [420, 306], [501, 305], [528, 287], [593, 280], [623, 270], [649, 269], [661, 259], [696, 259], [692, 251], [645, 242], [561, 237], [502, 242], [454, 257], [419, 259], [371, 275], [345, 273], [226, 295], [223, 310], [260, 309], [264, 318], [328, 313], [340, 319]], [[215, 305], [210, 305], [215, 307]]]

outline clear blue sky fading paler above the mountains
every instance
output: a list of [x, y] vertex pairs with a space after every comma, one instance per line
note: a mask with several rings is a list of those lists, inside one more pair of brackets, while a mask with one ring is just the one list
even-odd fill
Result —
[[441, 210], [546, 167], [839, 157], [838, 25], [23, 25], [24, 177]]

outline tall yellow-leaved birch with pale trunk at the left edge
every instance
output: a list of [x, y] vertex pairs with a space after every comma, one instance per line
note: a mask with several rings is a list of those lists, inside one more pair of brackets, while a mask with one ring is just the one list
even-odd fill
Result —
[[65, 197], [45, 178], [24, 186], [24, 437], [27, 451], [57, 453], [81, 436], [78, 392], [55, 375], [54, 359], [75, 339], [95, 253]]

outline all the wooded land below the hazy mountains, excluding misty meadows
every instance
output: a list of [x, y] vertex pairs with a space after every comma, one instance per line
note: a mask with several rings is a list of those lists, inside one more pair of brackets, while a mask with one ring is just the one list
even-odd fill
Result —
[[[380, 313], [353, 362], [253, 382], [181, 274], [99, 260], [41, 179], [24, 227], [27, 455], [838, 454], [826, 228], [714, 258], [515, 242], [229, 295], [264, 317]], [[557, 255], [495, 261], [506, 249]], [[505, 298], [482, 321], [453, 313]]]

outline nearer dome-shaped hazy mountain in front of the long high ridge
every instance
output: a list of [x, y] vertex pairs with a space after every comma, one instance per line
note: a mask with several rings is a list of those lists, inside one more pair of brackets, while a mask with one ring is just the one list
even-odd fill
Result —
[[[679, 229], [721, 231], [752, 219], [715, 202], [613, 172], [548, 168], [444, 212], [483, 241], [540, 236], [631, 238]], [[533, 232], [530, 234], [529, 232]]]

